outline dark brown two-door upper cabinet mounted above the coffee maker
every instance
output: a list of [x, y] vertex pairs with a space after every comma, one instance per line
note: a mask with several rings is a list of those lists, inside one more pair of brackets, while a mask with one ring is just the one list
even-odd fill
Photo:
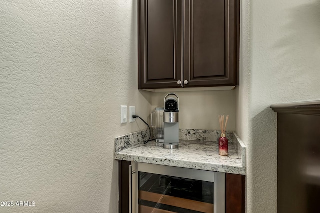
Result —
[[138, 88], [239, 85], [239, 0], [139, 0]]

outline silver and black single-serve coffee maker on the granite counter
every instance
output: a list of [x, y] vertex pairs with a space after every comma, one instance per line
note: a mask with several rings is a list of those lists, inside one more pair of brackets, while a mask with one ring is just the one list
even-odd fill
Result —
[[164, 142], [163, 147], [176, 149], [179, 147], [179, 98], [174, 93], [164, 97]]

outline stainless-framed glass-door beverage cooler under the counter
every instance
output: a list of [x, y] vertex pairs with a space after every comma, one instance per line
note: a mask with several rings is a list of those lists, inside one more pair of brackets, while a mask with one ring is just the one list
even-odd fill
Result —
[[130, 213], [225, 212], [225, 174], [131, 162]]

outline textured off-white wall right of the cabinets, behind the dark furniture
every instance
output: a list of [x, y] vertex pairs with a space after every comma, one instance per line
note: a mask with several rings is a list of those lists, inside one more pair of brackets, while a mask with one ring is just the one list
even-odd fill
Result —
[[276, 212], [276, 113], [269, 106], [320, 100], [319, 35], [319, 0], [242, 1], [236, 131], [247, 145], [249, 213]]

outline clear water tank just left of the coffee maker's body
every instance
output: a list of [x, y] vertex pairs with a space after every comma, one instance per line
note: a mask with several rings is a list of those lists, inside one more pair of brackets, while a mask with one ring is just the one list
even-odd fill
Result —
[[154, 128], [155, 142], [163, 143], [164, 123], [163, 123], [164, 108], [157, 107], [151, 114], [151, 126]]

